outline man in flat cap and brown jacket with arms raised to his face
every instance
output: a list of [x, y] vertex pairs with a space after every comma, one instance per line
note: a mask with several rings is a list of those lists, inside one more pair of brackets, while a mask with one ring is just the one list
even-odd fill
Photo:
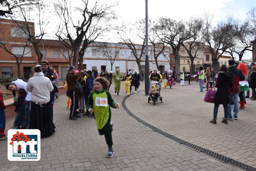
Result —
[[71, 106], [70, 106], [70, 114], [69, 119], [70, 120], [77, 120], [77, 118], [80, 118], [81, 116], [77, 115], [77, 109], [78, 109], [78, 96], [79, 91], [76, 89], [75, 85], [77, 84], [77, 79], [82, 76], [83, 70], [79, 71], [77, 74], [75, 74], [75, 67], [70, 66], [68, 67], [68, 73], [66, 75], [66, 81], [68, 84], [68, 96], [71, 98]]

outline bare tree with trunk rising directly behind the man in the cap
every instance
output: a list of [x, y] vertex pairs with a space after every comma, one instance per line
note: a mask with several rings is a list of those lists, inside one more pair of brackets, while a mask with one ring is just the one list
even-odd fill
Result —
[[[19, 28], [19, 31], [25, 34], [25, 36], [28, 39], [28, 42], [30, 42], [37, 55], [37, 61], [38, 64], [41, 64], [43, 54], [40, 51], [40, 48], [38, 44], [42, 40], [43, 36], [45, 35], [45, 29], [49, 22], [47, 22], [46, 18], [43, 18], [43, 15], [45, 14], [45, 5], [42, 2], [38, 2], [37, 4], [34, 4], [34, 6], [19, 6], [17, 7], [18, 12], [15, 13], [14, 16], [9, 15], [9, 17], [14, 21], [14, 23]], [[43, 12], [42, 12], [43, 11]], [[31, 27], [31, 21], [34, 20], [33, 16], [36, 12], [36, 15], [38, 16], [39, 23], [39, 32], [35, 34], [34, 28]], [[18, 21], [22, 20], [22, 22]], [[33, 29], [33, 30], [32, 30]]]

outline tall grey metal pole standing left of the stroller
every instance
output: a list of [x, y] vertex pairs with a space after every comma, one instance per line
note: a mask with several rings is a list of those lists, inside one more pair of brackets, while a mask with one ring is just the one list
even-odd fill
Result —
[[149, 59], [148, 59], [148, 0], [146, 0], [146, 56], [145, 56], [145, 95], [149, 95]]

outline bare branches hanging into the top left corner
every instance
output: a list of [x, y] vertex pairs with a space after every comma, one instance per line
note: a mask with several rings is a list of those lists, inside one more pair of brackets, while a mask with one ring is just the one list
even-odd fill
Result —
[[0, 0], [0, 16], [12, 15], [13, 10], [20, 7], [33, 6], [39, 3], [39, 0]]

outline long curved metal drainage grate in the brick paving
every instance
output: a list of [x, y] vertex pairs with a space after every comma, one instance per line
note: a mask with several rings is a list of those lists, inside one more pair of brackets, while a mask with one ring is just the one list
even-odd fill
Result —
[[156, 132], [158, 134], [161, 134], [164, 137], [167, 137], [167, 138], [175, 141], [176, 143], [179, 143], [179, 144], [181, 144], [181, 145], [183, 145], [185, 147], [188, 147], [188, 148], [190, 148], [192, 150], [195, 150], [197, 152], [204, 153], [205, 155], [210, 156], [210, 157], [212, 157], [214, 159], [217, 159], [217, 160], [219, 160], [221, 162], [224, 162], [224, 163], [226, 163], [228, 165], [231, 165], [231, 166], [243, 169], [244, 171], [256, 171], [256, 168], [254, 168], [254, 167], [252, 167], [250, 165], [244, 164], [242, 162], [238, 162], [238, 161], [236, 161], [234, 159], [231, 159], [229, 157], [223, 156], [222, 154], [219, 154], [219, 153], [215, 153], [215, 152], [213, 152], [211, 150], [207, 150], [207, 149], [205, 149], [203, 147], [199, 147], [199, 146], [197, 146], [195, 144], [191, 144], [191, 143], [189, 143], [189, 142], [187, 142], [185, 140], [180, 139], [179, 137], [176, 137], [176, 136], [174, 136], [172, 134], [169, 134], [168, 132], [165, 132], [165, 131], [163, 131], [163, 130], [161, 130], [161, 129], [159, 129], [159, 128], [151, 125], [151, 124], [149, 124], [148, 122], [145, 122], [143, 119], [139, 118], [138, 116], [136, 116], [134, 113], [132, 113], [128, 109], [128, 107], [125, 104], [126, 98], [127, 98], [127, 96], [125, 98], [123, 98], [122, 103], [121, 103], [122, 107], [123, 107], [123, 110], [126, 111], [126, 113], [128, 115], [130, 115], [131, 117], [133, 117], [133, 119], [135, 119], [137, 122], [141, 123], [142, 125], [145, 125], [146, 127], [151, 129], [152, 131], [154, 131], [154, 132]]

